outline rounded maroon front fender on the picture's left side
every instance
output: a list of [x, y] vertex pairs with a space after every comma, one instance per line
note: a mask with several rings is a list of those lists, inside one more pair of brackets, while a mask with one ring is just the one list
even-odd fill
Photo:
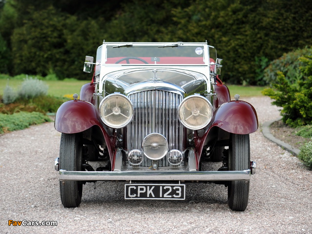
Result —
[[89, 102], [70, 100], [64, 102], [55, 116], [54, 127], [61, 133], [80, 133], [98, 125], [98, 110]]

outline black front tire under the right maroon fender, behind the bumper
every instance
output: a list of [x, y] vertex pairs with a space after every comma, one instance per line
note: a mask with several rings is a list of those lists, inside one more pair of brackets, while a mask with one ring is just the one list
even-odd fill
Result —
[[[229, 170], [242, 171], [250, 167], [249, 135], [231, 134], [229, 146]], [[249, 181], [230, 181], [228, 203], [233, 211], [245, 211], [249, 198]]]

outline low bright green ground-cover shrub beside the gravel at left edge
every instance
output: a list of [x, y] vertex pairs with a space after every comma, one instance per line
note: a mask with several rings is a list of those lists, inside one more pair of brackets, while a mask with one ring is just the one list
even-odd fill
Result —
[[21, 130], [32, 124], [50, 121], [49, 117], [38, 112], [19, 112], [13, 115], [0, 114], [0, 133]]

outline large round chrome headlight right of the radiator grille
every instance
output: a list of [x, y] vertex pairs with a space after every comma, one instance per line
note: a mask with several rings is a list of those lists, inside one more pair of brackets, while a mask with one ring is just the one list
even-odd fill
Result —
[[213, 106], [206, 98], [192, 95], [183, 99], [178, 113], [179, 119], [185, 127], [199, 130], [209, 124], [213, 116]]

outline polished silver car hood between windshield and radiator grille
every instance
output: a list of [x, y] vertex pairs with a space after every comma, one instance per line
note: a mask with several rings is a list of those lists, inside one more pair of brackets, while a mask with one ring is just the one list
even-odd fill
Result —
[[126, 69], [104, 77], [105, 95], [115, 92], [130, 95], [145, 90], [181, 93], [184, 97], [207, 92], [207, 78], [183, 69]]

